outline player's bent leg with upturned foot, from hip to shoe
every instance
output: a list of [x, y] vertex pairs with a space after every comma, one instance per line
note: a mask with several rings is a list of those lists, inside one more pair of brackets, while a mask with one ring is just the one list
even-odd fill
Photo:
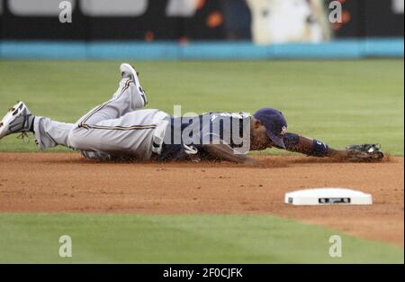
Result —
[[146, 136], [166, 114], [157, 110], [139, 110], [148, 102], [139, 84], [138, 74], [129, 64], [122, 64], [120, 69], [122, 79], [112, 99], [80, 118], [67, 142], [78, 150], [108, 154], [133, 153], [138, 154], [139, 159], [144, 159], [139, 152], [144, 151], [144, 146], [151, 146]]

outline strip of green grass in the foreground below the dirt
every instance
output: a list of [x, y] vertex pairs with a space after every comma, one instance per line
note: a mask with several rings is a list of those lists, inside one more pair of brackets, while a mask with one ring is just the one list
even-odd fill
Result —
[[0, 214], [0, 234], [0, 262], [403, 263], [399, 247], [265, 215]]

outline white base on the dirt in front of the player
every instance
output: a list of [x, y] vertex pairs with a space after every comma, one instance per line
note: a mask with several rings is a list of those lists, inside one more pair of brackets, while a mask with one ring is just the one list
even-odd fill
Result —
[[313, 188], [286, 193], [291, 205], [373, 205], [373, 196], [346, 188]]

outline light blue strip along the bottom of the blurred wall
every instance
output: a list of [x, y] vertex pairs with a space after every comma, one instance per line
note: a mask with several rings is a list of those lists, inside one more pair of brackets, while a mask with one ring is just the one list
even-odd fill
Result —
[[403, 38], [271, 46], [250, 41], [0, 41], [2, 59], [363, 59], [403, 55]]

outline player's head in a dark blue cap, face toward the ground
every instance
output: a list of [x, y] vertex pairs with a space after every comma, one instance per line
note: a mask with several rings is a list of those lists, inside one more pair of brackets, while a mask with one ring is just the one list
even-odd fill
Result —
[[282, 112], [266, 107], [258, 110], [253, 117], [251, 150], [263, 150], [269, 145], [285, 148], [283, 135], [287, 132], [287, 121]]

